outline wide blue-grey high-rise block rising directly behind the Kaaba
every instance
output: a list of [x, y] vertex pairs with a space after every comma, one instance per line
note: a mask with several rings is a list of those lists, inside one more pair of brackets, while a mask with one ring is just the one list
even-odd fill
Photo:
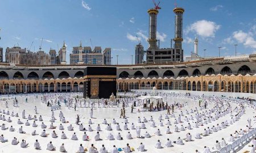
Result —
[[79, 46], [73, 47], [72, 54], [69, 55], [71, 64], [92, 64], [102, 65], [111, 63], [111, 48], [105, 48], [103, 54], [101, 46], [96, 46], [93, 50], [90, 46], [82, 47], [80, 42]]

